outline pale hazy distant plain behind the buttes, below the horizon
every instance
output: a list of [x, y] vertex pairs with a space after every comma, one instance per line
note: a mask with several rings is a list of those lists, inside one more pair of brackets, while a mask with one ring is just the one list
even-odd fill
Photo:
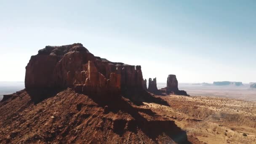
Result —
[[[147, 84], [148, 85], [148, 84]], [[166, 83], [157, 83], [157, 88], [166, 87]], [[236, 98], [248, 101], [256, 101], [256, 89], [252, 89], [248, 84], [243, 86], [228, 85], [193, 85], [193, 83], [179, 83], [179, 90], [187, 91], [191, 96], [214, 96]], [[12, 94], [24, 89], [24, 82], [1, 82], [0, 81], [0, 100], [3, 95]]]

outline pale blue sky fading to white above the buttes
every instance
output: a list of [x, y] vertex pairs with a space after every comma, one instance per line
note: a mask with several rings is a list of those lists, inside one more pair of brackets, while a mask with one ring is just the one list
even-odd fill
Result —
[[46, 45], [82, 43], [165, 83], [256, 82], [256, 0], [0, 0], [0, 81]]

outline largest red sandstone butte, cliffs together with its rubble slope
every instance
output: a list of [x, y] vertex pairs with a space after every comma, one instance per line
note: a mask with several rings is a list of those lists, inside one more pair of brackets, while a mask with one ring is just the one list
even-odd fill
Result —
[[25, 89], [0, 102], [0, 143], [200, 143], [140, 107], [168, 106], [145, 83], [141, 66], [94, 56], [80, 43], [46, 46], [27, 64]]

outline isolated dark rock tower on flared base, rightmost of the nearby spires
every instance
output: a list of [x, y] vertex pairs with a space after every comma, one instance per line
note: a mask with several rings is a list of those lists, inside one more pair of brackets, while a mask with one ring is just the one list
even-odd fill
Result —
[[167, 87], [161, 88], [159, 90], [161, 93], [169, 94], [176, 94], [176, 95], [184, 95], [189, 96], [186, 91], [180, 91], [178, 88], [178, 80], [176, 75], [168, 75], [167, 77]]

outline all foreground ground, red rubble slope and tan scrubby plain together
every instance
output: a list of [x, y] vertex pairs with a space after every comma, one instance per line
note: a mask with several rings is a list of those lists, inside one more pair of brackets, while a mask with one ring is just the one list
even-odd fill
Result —
[[0, 143], [256, 143], [254, 101], [169, 95], [135, 105], [68, 88], [34, 103], [34, 92], [0, 103]]

